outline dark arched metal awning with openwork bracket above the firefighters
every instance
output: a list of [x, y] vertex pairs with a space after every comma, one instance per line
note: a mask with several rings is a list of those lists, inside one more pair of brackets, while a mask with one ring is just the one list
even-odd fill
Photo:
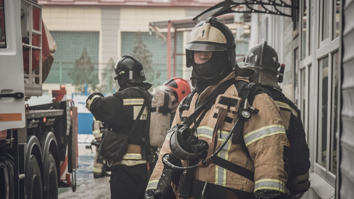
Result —
[[201, 22], [208, 17], [216, 17], [227, 13], [266, 13], [292, 17], [292, 10], [298, 9], [297, 0], [291, 0], [291, 5], [284, 0], [225, 0], [200, 13], [193, 18], [196, 22]]

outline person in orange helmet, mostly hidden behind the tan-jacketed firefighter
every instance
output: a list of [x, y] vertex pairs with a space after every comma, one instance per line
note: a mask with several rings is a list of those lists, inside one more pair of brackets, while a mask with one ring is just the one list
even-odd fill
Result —
[[171, 124], [176, 115], [176, 110], [181, 103], [182, 99], [190, 93], [190, 85], [188, 81], [182, 78], [172, 78], [164, 82], [164, 85], [160, 87], [161, 90], [168, 91], [172, 99], [171, 108]]

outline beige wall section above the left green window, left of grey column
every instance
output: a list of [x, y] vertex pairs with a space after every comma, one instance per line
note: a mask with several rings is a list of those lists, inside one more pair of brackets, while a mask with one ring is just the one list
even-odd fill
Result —
[[100, 31], [101, 8], [43, 6], [42, 18], [49, 30]]

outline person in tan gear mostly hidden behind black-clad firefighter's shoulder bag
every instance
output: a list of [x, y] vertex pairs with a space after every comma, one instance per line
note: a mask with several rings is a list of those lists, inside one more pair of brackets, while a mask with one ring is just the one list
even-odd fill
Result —
[[[93, 118], [93, 123], [92, 123], [92, 134], [95, 136], [95, 140], [91, 143], [91, 145], [95, 145], [96, 149], [98, 149], [99, 142], [101, 141], [102, 137], [102, 132], [99, 129], [102, 126], [101, 121], [97, 121], [95, 118]], [[94, 178], [100, 178], [104, 176], [110, 176], [107, 171], [107, 164], [105, 164], [106, 160], [98, 153], [96, 150], [96, 155], [95, 159], [93, 160], [93, 177]]]

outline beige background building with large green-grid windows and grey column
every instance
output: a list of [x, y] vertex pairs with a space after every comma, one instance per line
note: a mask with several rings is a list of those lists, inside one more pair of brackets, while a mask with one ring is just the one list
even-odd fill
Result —
[[[70, 93], [77, 90], [72, 86], [74, 78], [70, 73], [73, 73], [75, 62], [84, 51], [93, 64], [90, 75], [99, 80], [98, 89], [102, 86], [99, 90], [105, 93], [114, 92], [117, 88], [116, 81], [110, 81], [114, 76], [112, 64], [122, 55], [139, 53], [141, 48], [146, 50], [151, 63], [145, 69], [148, 70], [145, 71], [147, 81], [161, 85], [167, 77], [167, 45], [151, 32], [149, 22], [193, 17], [214, 2], [39, 0], [39, 3], [43, 5], [43, 21], [57, 43], [51, 72], [43, 84], [44, 94], [51, 94], [58, 84], [67, 84], [71, 96]], [[176, 51], [179, 54], [184, 53], [186, 37], [185, 32], [177, 33]], [[177, 56], [176, 75], [189, 79], [189, 73], [183, 73], [184, 60], [183, 56]]]

